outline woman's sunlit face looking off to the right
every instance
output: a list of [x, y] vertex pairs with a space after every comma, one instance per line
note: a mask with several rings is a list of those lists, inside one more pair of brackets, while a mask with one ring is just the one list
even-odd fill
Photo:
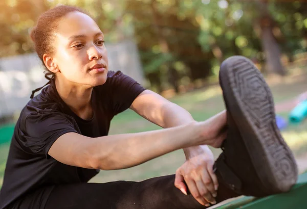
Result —
[[89, 86], [105, 83], [108, 60], [104, 36], [91, 17], [80, 12], [67, 14], [59, 21], [55, 37], [53, 63], [61, 77]]

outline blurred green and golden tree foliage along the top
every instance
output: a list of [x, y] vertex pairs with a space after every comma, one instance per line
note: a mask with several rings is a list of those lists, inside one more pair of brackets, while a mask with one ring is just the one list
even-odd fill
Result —
[[[38, 16], [58, 4], [89, 11], [108, 42], [133, 37], [145, 74], [161, 66], [184, 63], [196, 77], [216, 74], [222, 60], [243, 55], [264, 61], [260, 0], [18, 0], [0, 3], [0, 57], [33, 51], [29, 30]], [[268, 1], [273, 33], [282, 54], [293, 57], [307, 48], [307, 3]], [[153, 15], [155, 13], [155, 15]], [[163, 41], [161, 41], [163, 39]], [[161, 44], [168, 51], [162, 53]], [[208, 73], [195, 66], [207, 62]], [[210, 66], [216, 66], [211, 68]], [[163, 67], [162, 67], [163, 68]], [[195, 79], [195, 78], [194, 78]], [[193, 79], [193, 80], [194, 80]]]

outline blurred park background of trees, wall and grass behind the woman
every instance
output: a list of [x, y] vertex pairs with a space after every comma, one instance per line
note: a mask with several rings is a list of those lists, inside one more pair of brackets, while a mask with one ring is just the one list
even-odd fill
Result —
[[[29, 37], [39, 15], [59, 4], [88, 11], [105, 34], [109, 69], [205, 120], [225, 109], [218, 85], [223, 60], [250, 58], [275, 99], [277, 122], [300, 172], [307, 169], [307, 105], [290, 121], [307, 92], [307, 2], [304, 0], [2, 0], [0, 1], [0, 187], [14, 123], [31, 91], [48, 81]], [[298, 98], [301, 98], [300, 100]], [[306, 96], [307, 98], [307, 96]], [[159, 129], [127, 110], [109, 134]], [[220, 149], [212, 149], [215, 157]], [[92, 182], [143, 180], [173, 174], [182, 150], [134, 168], [101, 171]]]

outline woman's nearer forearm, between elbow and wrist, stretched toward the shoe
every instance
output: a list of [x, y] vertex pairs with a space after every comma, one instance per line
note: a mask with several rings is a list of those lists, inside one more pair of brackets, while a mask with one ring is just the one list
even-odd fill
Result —
[[192, 146], [200, 131], [195, 122], [137, 134], [121, 134], [93, 139], [90, 153], [93, 166], [102, 170], [133, 167], [168, 152]]

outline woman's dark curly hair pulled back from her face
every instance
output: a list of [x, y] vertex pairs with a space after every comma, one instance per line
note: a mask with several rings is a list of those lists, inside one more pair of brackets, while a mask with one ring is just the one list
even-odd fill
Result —
[[[37, 20], [36, 26], [32, 29], [30, 37], [35, 44], [36, 53], [43, 64], [42, 56], [46, 53], [52, 54], [54, 52], [52, 46], [52, 42], [54, 41], [53, 34], [57, 30], [58, 22], [61, 18], [71, 12], [81, 12], [89, 15], [80, 8], [60, 5], [41, 14]], [[50, 75], [51, 77], [49, 77]], [[47, 70], [47, 73], [45, 74], [46, 79], [50, 81], [51, 79], [54, 79], [54, 76], [55, 74], [53, 72]]]

